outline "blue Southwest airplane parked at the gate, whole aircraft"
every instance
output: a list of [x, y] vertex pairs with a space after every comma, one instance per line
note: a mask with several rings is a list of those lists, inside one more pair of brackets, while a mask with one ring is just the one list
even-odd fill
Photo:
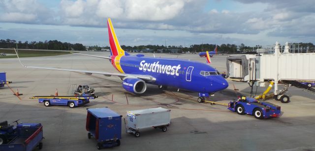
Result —
[[[108, 59], [120, 73], [25, 66], [22, 64], [19, 57], [18, 59], [21, 65], [27, 68], [118, 76], [123, 80], [123, 88], [126, 91], [137, 94], [144, 93], [147, 89], [146, 84], [148, 83], [158, 85], [158, 88], [160, 89], [169, 86], [199, 92], [198, 102], [203, 102], [205, 99], [204, 97], [208, 97], [209, 94], [224, 90], [228, 87], [227, 81], [217, 72], [217, 70], [206, 63], [190, 60], [144, 57], [144, 55], [140, 54], [130, 56], [121, 48], [110, 19], [107, 20], [107, 27], [111, 56], [86, 56]], [[210, 58], [208, 63], [210, 63]]]

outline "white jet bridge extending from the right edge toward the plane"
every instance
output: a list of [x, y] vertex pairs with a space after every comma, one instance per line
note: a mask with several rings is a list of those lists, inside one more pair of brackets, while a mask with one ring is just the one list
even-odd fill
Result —
[[[297, 81], [315, 81], [315, 53], [289, 53], [287, 43], [284, 53], [281, 53], [278, 42], [274, 49], [274, 54], [228, 56], [226, 59], [228, 78], [252, 85], [255, 83], [260, 87], [265, 87], [270, 81], [274, 81], [273, 93], [275, 96], [279, 95], [278, 97], [284, 93], [283, 90], [278, 90], [279, 83], [298, 86]], [[303, 88], [315, 94], [315, 89]]]

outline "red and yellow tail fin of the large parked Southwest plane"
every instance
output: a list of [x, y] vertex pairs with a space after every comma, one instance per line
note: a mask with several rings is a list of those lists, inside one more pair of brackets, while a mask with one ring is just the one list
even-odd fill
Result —
[[112, 21], [110, 18], [107, 19], [107, 29], [110, 44], [110, 51], [112, 56], [125, 56], [125, 51], [120, 47], [118, 42]]

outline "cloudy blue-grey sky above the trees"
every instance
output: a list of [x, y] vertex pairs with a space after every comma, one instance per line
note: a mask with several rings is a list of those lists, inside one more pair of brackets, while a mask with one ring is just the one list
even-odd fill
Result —
[[315, 0], [0, 0], [0, 39], [107, 46], [315, 43]]

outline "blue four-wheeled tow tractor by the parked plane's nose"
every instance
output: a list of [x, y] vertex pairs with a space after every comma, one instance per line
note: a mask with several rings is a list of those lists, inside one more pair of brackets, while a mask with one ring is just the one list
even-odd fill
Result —
[[256, 119], [278, 118], [281, 115], [280, 106], [245, 96], [242, 96], [237, 101], [231, 101], [228, 104], [228, 109], [239, 115], [253, 115]]

